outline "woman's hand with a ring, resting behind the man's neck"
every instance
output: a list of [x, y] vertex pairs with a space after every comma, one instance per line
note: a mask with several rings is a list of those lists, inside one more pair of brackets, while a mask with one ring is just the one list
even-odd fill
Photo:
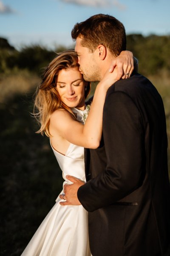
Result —
[[116, 80], [130, 77], [134, 69], [133, 53], [130, 51], [122, 51], [120, 55], [113, 60], [109, 72], [113, 72], [115, 67], [118, 69]]

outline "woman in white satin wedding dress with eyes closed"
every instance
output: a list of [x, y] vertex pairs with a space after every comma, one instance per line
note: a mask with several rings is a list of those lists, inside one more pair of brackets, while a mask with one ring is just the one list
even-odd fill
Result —
[[[124, 54], [130, 59], [127, 52]], [[128, 70], [132, 69], [129, 65]], [[127, 66], [125, 73], [126, 71]], [[66, 175], [85, 182], [84, 147], [99, 146], [105, 95], [108, 87], [116, 82], [116, 77], [116, 68], [113, 73], [108, 71], [96, 86], [93, 103], [86, 107], [85, 98], [90, 92], [90, 82], [85, 82], [79, 72], [74, 50], [60, 53], [45, 69], [37, 89], [35, 117], [40, 122], [38, 132], [45, 133], [50, 138], [52, 150], [65, 179], [63, 185], [70, 183]], [[65, 200], [63, 190], [61, 194], [62, 199], [57, 197], [55, 205], [42, 221], [22, 256], [91, 255], [88, 212], [82, 205], [61, 206], [60, 202]]]

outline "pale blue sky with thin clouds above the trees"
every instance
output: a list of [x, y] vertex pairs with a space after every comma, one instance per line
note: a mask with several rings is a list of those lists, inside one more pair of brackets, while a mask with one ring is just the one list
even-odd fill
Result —
[[0, 37], [17, 49], [71, 47], [74, 25], [98, 13], [121, 21], [127, 35], [170, 35], [170, 0], [0, 0]]

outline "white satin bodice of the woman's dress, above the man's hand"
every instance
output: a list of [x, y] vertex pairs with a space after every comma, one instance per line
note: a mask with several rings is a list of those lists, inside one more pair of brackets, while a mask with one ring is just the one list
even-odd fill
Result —
[[[83, 123], [82, 116], [84, 113], [86, 113], [86, 111], [76, 108], [72, 108], [72, 111], [76, 113], [77, 120]], [[84, 147], [70, 144], [65, 155], [59, 153], [53, 147], [52, 149], [54, 155], [56, 156], [59, 167], [62, 170], [63, 179], [71, 183], [65, 178], [66, 175], [71, 175], [85, 181]]]

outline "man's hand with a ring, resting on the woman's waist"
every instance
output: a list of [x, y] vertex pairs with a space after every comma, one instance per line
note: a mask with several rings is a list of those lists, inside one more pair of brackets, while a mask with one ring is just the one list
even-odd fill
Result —
[[61, 194], [59, 195], [59, 197], [63, 200], [66, 200], [65, 202], [60, 202], [60, 204], [62, 206], [65, 205], [80, 205], [81, 203], [79, 202], [79, 199], [77, 197], [77, 191], [79, 189], [79, 187], [81, 187], [82, 185], [85, 184], [85, 182], [83, 182], [81, 179], [77, 179], [76, 177], [67, 175], [66, 176], [67, 179], [69, 179], [71, 182], [73, 182], [73, 184], [68, 185], [65, 184], [64, 185], [64, 196]]

